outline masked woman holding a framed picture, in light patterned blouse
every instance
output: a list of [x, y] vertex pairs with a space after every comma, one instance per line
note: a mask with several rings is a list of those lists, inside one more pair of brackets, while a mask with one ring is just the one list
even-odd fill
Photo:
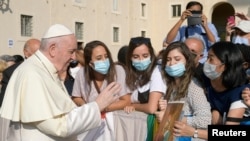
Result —
[[[201, 135], [196, 135], [199, 129], [207, 129], [211, 124], [210, 104], [207, 101], [204, 89], [200, 81], [194, 77], [194, 54], [183, 42], [173, 42], [164, 50], [162, 54], [162, 75], [167, 85], [165, 106], [159, 102], [161, 111], [156, 113], [159, 121], [162, 120], [166, 110], [167, 102], [184, 101], [183, 118], [175, 122], [174, 136], [187, 136], [188, 140], [197, 140]], [[192, 127], [190, 134], [184, 134], [181, 127]], [[202, 139], [198, 139], [202, 140]]]

